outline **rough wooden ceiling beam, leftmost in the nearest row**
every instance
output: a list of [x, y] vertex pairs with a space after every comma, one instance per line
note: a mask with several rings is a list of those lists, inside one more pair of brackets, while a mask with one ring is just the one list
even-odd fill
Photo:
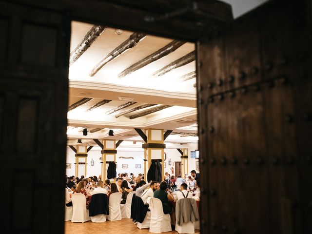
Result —
[[94, 25], [90, 31], [84, 36], [76, 48], [70, 53], [69, 66], [91, 46], [91, 44], [105, 31], [106, 27], [101, 25]]

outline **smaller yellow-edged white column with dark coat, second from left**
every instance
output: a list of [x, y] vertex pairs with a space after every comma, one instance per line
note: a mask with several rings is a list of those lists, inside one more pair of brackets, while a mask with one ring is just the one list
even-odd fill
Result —
[[[114, 161], [116, 163], [116, 140], [103, 140], [103, 150], [101, 151], [102, 154], [102, 178], [103, 181], [107, 179], [107, 164], [110, 161]], [[116, 178], [113, 179], [116, 182]]]

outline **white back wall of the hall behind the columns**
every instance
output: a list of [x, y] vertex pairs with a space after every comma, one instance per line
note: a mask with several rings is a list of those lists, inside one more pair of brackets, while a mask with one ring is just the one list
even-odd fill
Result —
[[[198, 159], [191, 158], [191, 150], [197, 150], [197, 144], [191, 144], [188, 147], [185, 146], [177, 146], [180, 148], [188, 148], [189, 149], [189, 170], [188, 170], [188, 175], [191, 175], [190, 172], [192, 170], [196, 170], [195, 167], [195, 161], [198, 161]], [[165, 149], [164, 152], [167, 155], [166, 159], [166, 168], [164, 169], [164, 173], [168, 172], [169, 174], [171, 173], [170, 168], [175, 167], [175, 161], [181, 161], [180, 158], [180, 153], [176, 149]], [[116, 156], [116, 161], [117, 161], [117, 174], [118, 173], [128, 173], [130, 176], [130, 173], [134, 173], [136, 176], [139, 173], [144, 173], [144, 167], [143, 167], [143, 155], [144, 155], [144, 150], [142, 148], [124, 148], [124, 147], [118, 147], [117, 148], [117, 156]], [[119, 158], [119, 157], [133, 157], [134, 159], [130, 158]], [[87, 175], [84, 176], [98, 176], [101, 174], [101, 163], [99, 160], [99, 157], [101, 157], [100, 153], [100, 148], [99, 147], [93, 147], [89, 152], [88, 152], [88, 157], [87, 157]], [[94, 160], [94, 166], [91, 166], [91, 159], [93, 158]], [[171, 158], [172, 164], [171, 166], [168, 165], [169, 158]], [[67, 147], [67, 158], [66, 158], [66, 163], [71, 163], [71, 168], [66, 169], [66, 175], [67, 176], [75, 176], [75, 152]], [[121, 168], [122, 164], [127, 164], [128, 168]], [[141, 168], [136, 168], [136, 164], [141, 164]], [[176, 169], [175, 169], [176, 172]], [[197, 172], [197, 170], [196, 170]], [[79, 173], [78, 177], [80, 177], [83, 173]]]

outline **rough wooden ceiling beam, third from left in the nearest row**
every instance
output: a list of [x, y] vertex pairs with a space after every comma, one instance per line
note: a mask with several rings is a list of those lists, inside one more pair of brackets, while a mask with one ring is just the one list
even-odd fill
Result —
[[138, 62], [136, 62], [135, 64], [131, 65], [130, 67], [126, 68], [125, 70], [123, 70], [118, 77], [122, 78], [125, 77], [127, 75], [129, 75], [130, 73], [133, 73], [135, 71], [137, 71], [138, 69], [158, 60], [161, 59], [162, 57], [174, 52], [177, 48], [179, 48], [180, 46], [182, 46], [183, 44], [185, 44], [185, 41], [180, 41], [180, 40], [173, 40], [171, 41], [169, 44], [165, 45], [164, 47], [162, 47], [161, 49], [157, 50], [155, 53], [145, 57], [142, 60], [139, 60]]

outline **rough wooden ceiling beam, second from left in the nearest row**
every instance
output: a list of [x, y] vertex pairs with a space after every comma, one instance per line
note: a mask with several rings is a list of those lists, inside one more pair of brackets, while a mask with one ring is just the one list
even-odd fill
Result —
[[109, 53], [104, 59], [102, 59], [90, 72], [90, 76], [93, 77], [97, 72], [107, 63], [117, 58], [119, 55], [123, 54], [126, 50], [134, 47], [137, 43], [144, 39], [146, 34], [143, 33], [134, 33], [129, 39], [122, 42], [118, 45], [111, 53]]

